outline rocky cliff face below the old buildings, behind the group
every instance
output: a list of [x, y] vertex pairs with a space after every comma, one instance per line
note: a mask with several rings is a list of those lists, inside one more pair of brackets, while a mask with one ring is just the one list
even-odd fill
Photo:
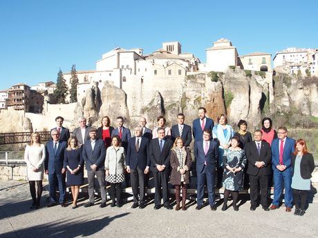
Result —
[[[270, 72], [236, 68], [225, 73], [187, 75], [183, 81], [165, 82], [160, 87], [148, 88], [147, 93], [143, 86], [140, 87], [137, 87], [140, 90], [126, 93], [109, 82], [104, 83], [102, 90], [93, 85], [86, 90], [86, 97], [76, 106], [62, 105], [70, 111], [61, 115], [66, 117], [65, 126], [73, 130], [77, 127], [77, 119], [84, 116], [91, 125], [99, 127], [105, 115], [111, 118], [113, 126], [115, 118], [122, 116], [127, 119], [125, 124], [131, 128], [138, 125], [140, 116], [146, 117], [148, 126], [153, 128], [157, 126], [156, 117], [164, 115], [167, 126], [171, 126], [176, 123], [178, 112], [183, 112], [185, 123], [191, 124], [198, 117], [200, 106], [207, 108], [208, 117], [214, 121], [219, 115], [226, 114], [234, 130], [240, 119], [245, 119], [252, 130], [260, 126], [261, 118], [265, 116], [280, 115], [283, 121], [279, 123], [282, 124], [287, 120], [297, 121], [300, 115], [318, 117], [318, 79], [315, 77], [299, 79], [283, 73], [272, 77]], [[172, 92], [174, 95], [171, 95]], [[39, 121], [46, 121], [49, 123], [46, 128], [53, 128], [55, 117], [64, 114], [62, 111], [65, 110], [52, 108], [47, 106], [44, 115], [37, 115], [36, 120], [30, 113], [24, 115], [14, 110], [3, 110], [0, 123], [6, 126], [1, 126], [0, 132], [40, 130], [37, 125]]]

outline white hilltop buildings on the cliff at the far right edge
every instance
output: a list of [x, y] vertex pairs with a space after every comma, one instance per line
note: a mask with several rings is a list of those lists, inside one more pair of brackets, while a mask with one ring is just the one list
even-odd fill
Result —
[[318, 76], [318, 49], [287, 48], [277, 52], [273, 61], [275, 69], [284, 68], [292, 75]]

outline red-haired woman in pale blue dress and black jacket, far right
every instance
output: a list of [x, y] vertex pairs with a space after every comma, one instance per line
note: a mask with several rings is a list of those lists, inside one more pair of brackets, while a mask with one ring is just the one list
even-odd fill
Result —
[[[292, 155], [292, 193], [294, 199], [294, 215], [303, 216], [308, 192], [310, 191], [310, 177], [315, 168], [314, 158], [308, 152], [306, 141], [299, 139], [295, 144]], [[300, 197], [300, 206], [299, 206]]]

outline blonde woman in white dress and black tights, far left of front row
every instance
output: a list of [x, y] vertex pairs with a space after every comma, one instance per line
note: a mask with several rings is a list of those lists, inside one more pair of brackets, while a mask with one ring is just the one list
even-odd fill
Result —
[[[26, 161], [26, 175], [30, 184], [32, 205], [30, 208], [39, 208], [42, 195], [42, 180], [44, 175], [45, 146], [41, 143], [39, 132], [31, 135], [31, 142], [26, 146], [24, 161]], [[35, 188], [37, 184], [37, 188]]]

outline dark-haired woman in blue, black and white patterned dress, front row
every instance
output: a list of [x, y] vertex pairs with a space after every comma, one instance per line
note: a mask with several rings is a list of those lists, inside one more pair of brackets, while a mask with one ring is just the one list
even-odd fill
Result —
[[225, 150], [223, 155], [223, 187], [224, 187], [224, 204], [222, 210], [227, 209], [227, 200], [230, 193], [233, 197], [232, 206], [234, 210], [238, 210], [236, 202], [238, 199], [238, 191], [243, 188], [244, 185], [244, 168], [246, 165], [246, 156], [244, 150], [242, 150], [239, 144], [240, 138], [237, 136], [232, 137], [231, 147]]

